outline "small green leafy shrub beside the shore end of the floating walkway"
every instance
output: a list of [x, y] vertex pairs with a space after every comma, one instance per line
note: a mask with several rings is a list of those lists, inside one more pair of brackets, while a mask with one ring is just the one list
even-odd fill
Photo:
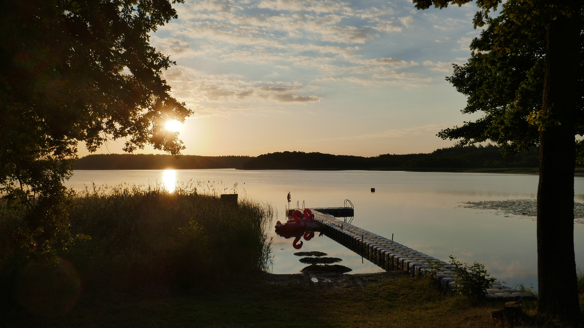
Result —
[[491, 275], [486, 273], [485, 264], [475, 262], [468, 265], [457, 261], [452, 255], [450, 260], [450, 264], [454, 266], [452, 271], [456, 274], [454, 282], [457, 285], [454, 287], [454, 292], [472, 298], [484, 298], [486, 289], [490, 287], [491, 282], [495, 281], [495, 278], [491, 278]]

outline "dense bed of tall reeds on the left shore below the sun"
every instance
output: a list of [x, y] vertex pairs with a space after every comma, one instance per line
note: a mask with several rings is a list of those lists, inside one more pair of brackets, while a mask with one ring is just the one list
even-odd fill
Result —
[[[272, 207], [246, 197], [227, 203], [218, 196], [201, 183], [183, 184], [172, 193], [162, 186], [127, 185], [72, 192], [69, 229], [81, 238], [60, 250], [58, 261], [75, 271], [83, 294], [98, 298], [119, 292], [196, 292], [267, 271], [271, 257], [265, 228]], [[18, 285], [31, 265], [15, 247], [24, 215], [25, 208], [0, 200], [5, 284]]]

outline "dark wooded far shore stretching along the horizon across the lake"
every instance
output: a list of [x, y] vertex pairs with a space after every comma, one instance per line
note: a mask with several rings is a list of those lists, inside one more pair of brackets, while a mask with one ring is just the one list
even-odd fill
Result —
[[453, 146], [431, 153], [332, 155], [320, 152], [274, 152], [251, 156], [146, 154], [88, 155], [75, 162], [78, 170], [145, 169], [383, 169], [383, 168], [537, 168], [538, 149], [503, 156], [498, 146]]

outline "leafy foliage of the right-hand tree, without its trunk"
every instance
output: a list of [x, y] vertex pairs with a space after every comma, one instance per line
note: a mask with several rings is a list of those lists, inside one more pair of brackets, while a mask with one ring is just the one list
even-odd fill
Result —
[[[432, 4], [444, 8], [448, 4], [460, 6], [467, 2], [414, 0], [418, 9], [429, 8]], [[499, 5], [502, 9], [499, 15], [489, 15]], [[500, 1], [477, 1], [477, 6], [480, 11], [474, 18], [475, 28], [485, 29], [472, 40], [468, 62], [453, 64], [454, 74], [446, 79], [468, 97], [463, 113], [483, 111], [485, 115], [461, 127], [442, 130], [438, 136], [460, 139], [459, 145], [490, 140], [507, 153], [527, 150], [539, 143], [539, 131], [550, 124], [562, 124], [552, 120], [542, 107], [545, 27], [558, 15], [571, 13], [550, 1], [510, 0], [502, 5]], [[580, 11], [582, 8], [580, 4]], [[580, 37], [576, 41], [582, 44], [583, 40]], [[576, 88], [580, 92], [580, 102], [575, 109], [575, 120], [568, 123], [574, 124], [577, 135], [584, 134], [582, 86], [580, 76]], [[580, 148], [582, 146], [580, 144]]]

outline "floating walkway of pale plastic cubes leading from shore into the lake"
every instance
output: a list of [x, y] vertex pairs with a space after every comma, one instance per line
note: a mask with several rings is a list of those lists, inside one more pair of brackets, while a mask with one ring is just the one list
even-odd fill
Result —
[[[343, 208], [311, 208], [315, 221], [326, 236], [360, 254], [386, 271], [402, 270], [416, 277], [424, 277], [429, 274], [428, 263], [440, 264], [436, 272], [438, 284], [447, 291], [453, 291], [456, 283], [454, 266], [446, 261], [418, 252], [393, 240], [376, 235], [357, 226], [341, 221], [341, 217], [349, 210]], [[350, 215], [353, 216], [353, 208]], [[326, 213], [328, 212], [328, 213]], [[533, 295], [521, 292], [517, 289], [493, 282], [491, 288], [486, 289], [486, 298], [492, 301], [515, 301], [522, 298], [533, 298]]]

